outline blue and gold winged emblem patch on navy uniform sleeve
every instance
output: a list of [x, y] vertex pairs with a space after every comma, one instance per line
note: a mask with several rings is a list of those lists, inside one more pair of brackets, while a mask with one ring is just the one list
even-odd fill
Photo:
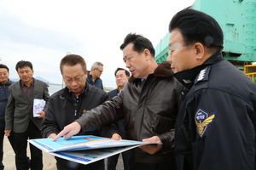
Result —
[[203, 133], [206, 132], [207, 126], [212, 122], [215, 114], [209, 115], [206, 111], [199, 109], [195, 114], [195, 124], [197, 126], [197, 133], [202, 137]]

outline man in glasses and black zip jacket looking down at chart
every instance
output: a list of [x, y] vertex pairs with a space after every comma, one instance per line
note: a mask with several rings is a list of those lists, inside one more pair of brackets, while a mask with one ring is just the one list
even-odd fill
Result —
[[[76, 54], [65, 56], [61, 59], [60, 68], [66, 88], [51, 95], [49, 99], [49, 108], [42, 126], [44, 138], [54, 139], [56, 134], [60, 133], [67, 124], [78, 119], [85, 111], [90, 111], [108, 100], [106, 92], [89, 86], [85, 82], [88, 71], [81, 56]], [[120, 139], [117, 133], [119, 133], [117, 127], [108, 125], [106, 127], [92, 127], [86, 131], [81, 131], [78, 135], [96, 135]], [[104, 160], [85, 166], [59, 157], [55, 157], [55, 159], [58, 170], [104, 170]]]

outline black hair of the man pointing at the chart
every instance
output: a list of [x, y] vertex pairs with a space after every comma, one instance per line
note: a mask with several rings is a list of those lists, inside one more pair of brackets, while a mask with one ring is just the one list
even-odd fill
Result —
[[120, 49], [123, 50], [130, 43], [133, 43], [133, 50], [137, 51], [137, 53], [141, 54], [143, 53], [144, 49], [147, 48], [150, 51], [151, 56], [154, 58], [154, 47], [148, 38], [135, 33], [129, 33], [125, 37], [123, 44], [120, 46]]

